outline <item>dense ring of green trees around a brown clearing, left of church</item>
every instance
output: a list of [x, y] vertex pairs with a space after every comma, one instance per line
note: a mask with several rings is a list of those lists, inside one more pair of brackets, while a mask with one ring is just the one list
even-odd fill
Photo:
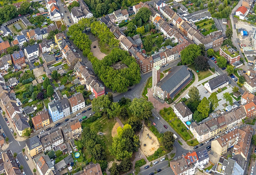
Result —
[[[114, 48], [110, 54], [102, 60], [98, 60], [92, 53], [88, 54], [95, 73], [99, 76], [106, 87], [117, 92], [127, 91], [127, 87], [140, 82], [140, 69], [135, 59], [128, 52]], [[127, 68], [114, 69], [114, 63], [121, 61]]]

